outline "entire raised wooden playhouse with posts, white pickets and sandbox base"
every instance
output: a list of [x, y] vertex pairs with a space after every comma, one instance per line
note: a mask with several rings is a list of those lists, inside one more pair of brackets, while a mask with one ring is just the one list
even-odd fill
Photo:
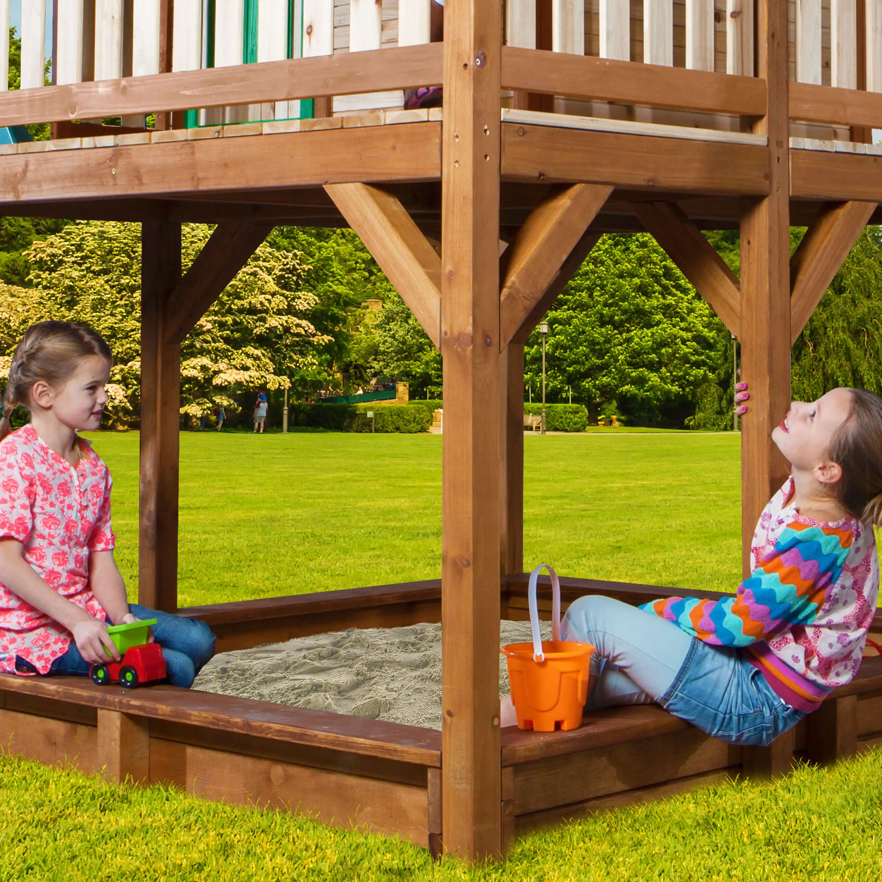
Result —
[[[557, 818], [882, 734], [882, 659], [768, 749], [654, 706], [501, 731], [497, 699], [499, 617], [526, 617], [527, 334], [603, 232], [655, 235], [741, 344], [746, 553], [785, 474], [769, 436], [790, 345], [879, 217], [882, 0], [447, 0], [435, 43], [430, 0], [56, 0], [49, 22], [45, 0], [23, 5], [0, 126], [52, 137], [0, 146], [0, 210], [143, 229], [140, 601], [177, 609], [181, 340], [274, 224], [351, 226], [445, 356], [441, 579], [179, 611], [219, 650], [441, 620], [445, 716], [439, 733], [0, 676], [4, 744], [478, 859]], [[402, 109], [438, 85], [443, 107]], [[182, 275], [185, 221], [217, 227]], [[791, 224], [808, 227], [792, 258]], [[702, 228], [740, 228], [740, 279]], [[564, 601], [667, 590], [564, 579]]]

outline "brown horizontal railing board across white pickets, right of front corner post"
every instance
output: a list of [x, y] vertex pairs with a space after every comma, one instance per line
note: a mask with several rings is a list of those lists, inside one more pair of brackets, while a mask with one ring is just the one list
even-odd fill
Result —
[[758, 78], [515, 46], [502, 49], [502, 86], [650, 107], [742, 116], [766, 112], [766, 84]]

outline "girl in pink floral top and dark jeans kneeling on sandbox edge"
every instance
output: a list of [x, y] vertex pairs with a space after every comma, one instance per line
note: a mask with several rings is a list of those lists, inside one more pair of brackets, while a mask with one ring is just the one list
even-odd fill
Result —
[[[108, 467], [77, 434], [101, 425], [110, 367], [101, 336], [70, 322], [31, 325], [12, 356], [0, 419], [0, 671], [87, 676], [120, 661], [108, 624], [155, 618], [169, 682], [190, 686], [214, 635], [126, 602]], [[16, 406], [31, 422], [12, 431]]]

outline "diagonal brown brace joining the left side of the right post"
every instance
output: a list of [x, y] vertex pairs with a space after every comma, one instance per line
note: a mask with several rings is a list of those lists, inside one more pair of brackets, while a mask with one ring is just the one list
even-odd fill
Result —
[[634, 213], [668, 253], [723, 325], [741, 334], [741, 291], [736, 274], [683, 210], [669, 202], [635, 202]]

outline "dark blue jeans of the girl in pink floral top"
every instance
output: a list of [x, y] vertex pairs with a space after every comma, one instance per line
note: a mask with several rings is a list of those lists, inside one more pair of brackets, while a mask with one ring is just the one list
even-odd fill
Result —
[[[172, 613], [147, 609], [139, 603], [130, 603], [132, 616], [145, 619], [155, 618], [153, 639], [162, 647], [162, 657], [166, 662], [168, 682], [173, 686], [189, 687], [196, 679], [199, 670], [214, 654], [214, 635], [205, 622], [192, 618], [182, 618]], [[108, 619], [108, 624], [113, 624]], [[21, 664], [24, 662], [24, 664]], [[49, 674], [88, 676], [91, 662], [79, 654], [77, 644], [71, 640], [64, 655], [59, 655]], [[33, 665], [24, 659], [16, 658], [16, 669], [36, 673]]]

